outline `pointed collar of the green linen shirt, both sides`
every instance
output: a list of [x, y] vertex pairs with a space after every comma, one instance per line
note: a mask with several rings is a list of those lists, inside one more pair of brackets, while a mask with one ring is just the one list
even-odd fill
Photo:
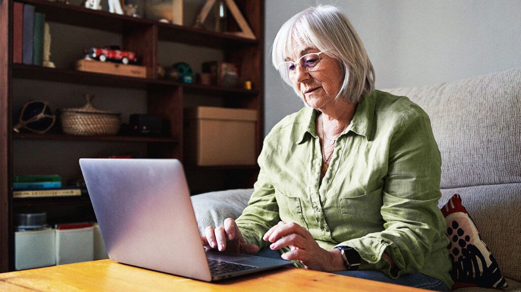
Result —
[[[368, 141], [371, 140], [371, 134], [373, 134], [373, 118], [375, 116], [376, 106], [376, 90], [371, 92], [370, 95], [364, 97], [356, 107], [356, 112], [351, 120], [351, 124], [340, 134], [340, 136], [346, 134], [349, 131], [353, 131], [357, 135], [364, 136]], [[315, 120], [317, 116], [317, 110], [313, 108], [306, 108], [302, 115], [302, 121], [300, 123], [301, 128], [297, 131], [296, 143], [301, 144], [304, 142], [306, 135], [309, 134], [317, 138]]]

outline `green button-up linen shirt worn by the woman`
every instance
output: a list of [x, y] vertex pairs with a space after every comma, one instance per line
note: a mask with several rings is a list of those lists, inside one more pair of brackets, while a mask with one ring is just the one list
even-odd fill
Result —
[[393, 278], [421, 272], [451, 287], [449, 238], [437, 205], [441, 156], [428, 115], [406, 97], [373, 91], [338, 137], [320, 182], [316, 114], [305, 107], [266, 136], [254, 192], [237, 219], [246, 242], [264, 248], [269, 228], [295, 222], [322, 248], [353, 247], [361, 269]]

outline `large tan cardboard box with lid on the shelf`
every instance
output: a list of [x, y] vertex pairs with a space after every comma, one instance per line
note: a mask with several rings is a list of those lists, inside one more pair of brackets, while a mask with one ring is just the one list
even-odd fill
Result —
[[199, 166], [255, 165], [257, 111], [185, 109], [185, 160]]

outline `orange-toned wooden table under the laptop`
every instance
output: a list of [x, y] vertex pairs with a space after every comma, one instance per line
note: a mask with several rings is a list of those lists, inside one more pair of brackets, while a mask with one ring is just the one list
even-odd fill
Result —
[[111, 260], [0, 274], [0, 291], [425, 291], [331, 273], [282, 268], [206, 283]]

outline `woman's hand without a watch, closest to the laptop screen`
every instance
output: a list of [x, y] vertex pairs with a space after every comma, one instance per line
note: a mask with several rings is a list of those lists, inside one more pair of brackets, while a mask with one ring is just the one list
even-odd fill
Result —
[[259, 251], [259, 248], [250, 243], [246, 243], [242, 233], [237, 227], [235, 220], [226, 218], [224, 226], [212, 227], [205, 229], [205, 235], [201, 236], [203, 245], [206, 249], [218, 249], [219, 251], [230, 251], [231, 253], [253, 255]]

